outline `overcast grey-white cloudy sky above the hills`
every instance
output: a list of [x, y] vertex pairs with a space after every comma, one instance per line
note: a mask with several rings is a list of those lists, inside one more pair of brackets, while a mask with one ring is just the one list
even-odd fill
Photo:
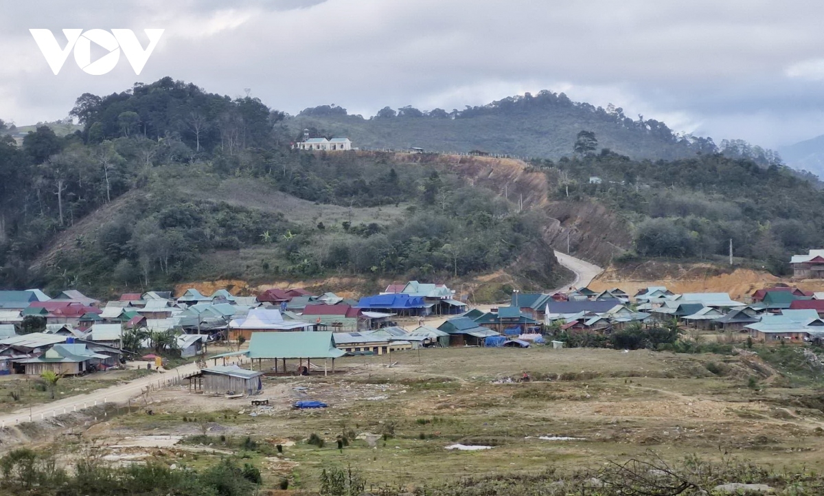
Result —
[[[0, 119], [64, 117], [83, 92], [171, 76], [296, 114], [336, 104], [447, 110], [524, 91], [613, 103], [672, 129], [778, 147], [824, 133], [824, 6], [694, 0], [5, 2]], [[136, 76], [49, 69], [30, 28], [162, 28]]]

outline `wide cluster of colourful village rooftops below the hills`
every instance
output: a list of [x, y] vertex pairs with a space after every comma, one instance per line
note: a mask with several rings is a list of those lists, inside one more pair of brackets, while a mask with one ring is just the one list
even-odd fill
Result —
[[[748, 302], [728, 293], [675, 294], [653, 287], [629, 295], [619, 288], [594, 292], [513, 292], [508, 306], [470, 308], [444, 284], [392, 284], [357, 301], [302, 288], [269, 289], [237, 296], [225, 289], [204, 295], [190, 288], [127, 293], [99, 302], [76, 290], [49, 297], [44, 292], [0, 291], [0, 373], [76, 375], [105, 371], [138, 358], [124, 349], [124, 333], [173, 333], [183, 358], [203, 355], [209, 342], [237, 344], [236, 352], [262, 360], [333, 360], [344, 354], [377, 354], [445, 346], [526, 348], [562, 345], [553, 333], [608, 335], [626, 325], [677, 320], [686, 328], [733, 330], [770, 343], [824, 338], [824, 294], [780, 286], [754, 292]], [[427, 325], [438, 317], [438, 325]], [[414, 322], [398, 325], [397, 321]], [[31, 332], [32, 325], [40, 329]], [[248, 349], [240, 344], [248, 342]], [[147, 340], [145, 347], [149, 347]]]

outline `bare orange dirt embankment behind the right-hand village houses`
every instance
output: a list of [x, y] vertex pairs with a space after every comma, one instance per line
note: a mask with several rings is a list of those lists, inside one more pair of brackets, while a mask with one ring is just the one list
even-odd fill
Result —
[[634, 294], [648, 286], [666, 286], [672, 292], [728, 292], [733, 300], [747, 301], [753, 292], [784, 283], [805, 291], [824, 291], [824, 280], [794, 281], [753, 269], [733, 269], [716, 264], [680, 264], [650, 260], [611, 266], [589, 285], [594, 291], [621, 288]]

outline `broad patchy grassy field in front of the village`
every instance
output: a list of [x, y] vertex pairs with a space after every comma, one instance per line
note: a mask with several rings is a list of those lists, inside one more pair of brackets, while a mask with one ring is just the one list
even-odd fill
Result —
[[[753, 360], [545, 347], [393, 353], [392, 367], [386, 356], [344, 358], [335, 377], [267, 378], [262, 397], [269, 407], [185, 388], [162, 391], [149, 399], [152, 416], [125, 415], [85, 438], [117, 444], [183, 436], [175, 447], [123, 448], [112, 456], [194, 467], [237, 456], [259, 466], [271, 488], [287, 478], [293, 488], [316, 489], [321, 470], [332, 466], [352, 466], [375, 486], [412, 488], [574, 470], [649, 450], [672, 461], [735, 455], [778, 469], [817, 466], [824, 461], [820, 392], [788, 387], [775, 369]], [[524, 372], [532, 381], [517, 382]], [[329, 408], [291, 409], [298, 399]], [[323, 447], [307, 444], [313, 433]], [[367, 433], [379, 437], [375, 446]], [[246, 437], [255, 447], [243, 447]], [[339, 437], [348, 443], [342, 450]], [[455, 443], [491, 448], [445, 449]]]

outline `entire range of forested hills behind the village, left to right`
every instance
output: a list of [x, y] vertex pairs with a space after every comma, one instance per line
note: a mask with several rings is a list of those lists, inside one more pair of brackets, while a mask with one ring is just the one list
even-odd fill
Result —
[[[84, 94], [72, 115], [81, 131], [59, 136], [40, 126], [21, 144], [0, 122], [0, 288], [108, 297], [217, 278], [460, 284], [490, 273], [554, 288], [563, 276], [549, 245], [563, 229], [575, 243], [610, 244], [626, 256], [712, 259], [732, 238], [737, 255], [775, 272], [789, 253], [824, 243], [822, 192], [770, 153], [746, 143], [716, 153], [709, 139], [679, 138], [662, 123], [549, 92], [452, 115], [407, 108], [364, 120], [321, 107], [300, 118], [359, 123], [386, 137], [374, 138], [379, 147], [407, 128], [434, 137], [474, 126], [462, 151], [522, 156], [555, 137], [551, 149], [564, 157], [532, 161], [529, 180], [517, 161], [507, 176], [478, 157], [293, 150], [297, 118], [170, 77]], [[560, 115], [581, 119], [566, 121], [569, 136], [530, 127]], [[502, 138], [484, 123], [532, 139]], [[685, 158], [634, 159], [608, 147]], [[589, 219], [559, 213], [587, 202], [603, 205]], [[595, 222], [598, 215], [609, 222]], [[621, 236], [599, 227], [606, 224], [620, 225]]]

